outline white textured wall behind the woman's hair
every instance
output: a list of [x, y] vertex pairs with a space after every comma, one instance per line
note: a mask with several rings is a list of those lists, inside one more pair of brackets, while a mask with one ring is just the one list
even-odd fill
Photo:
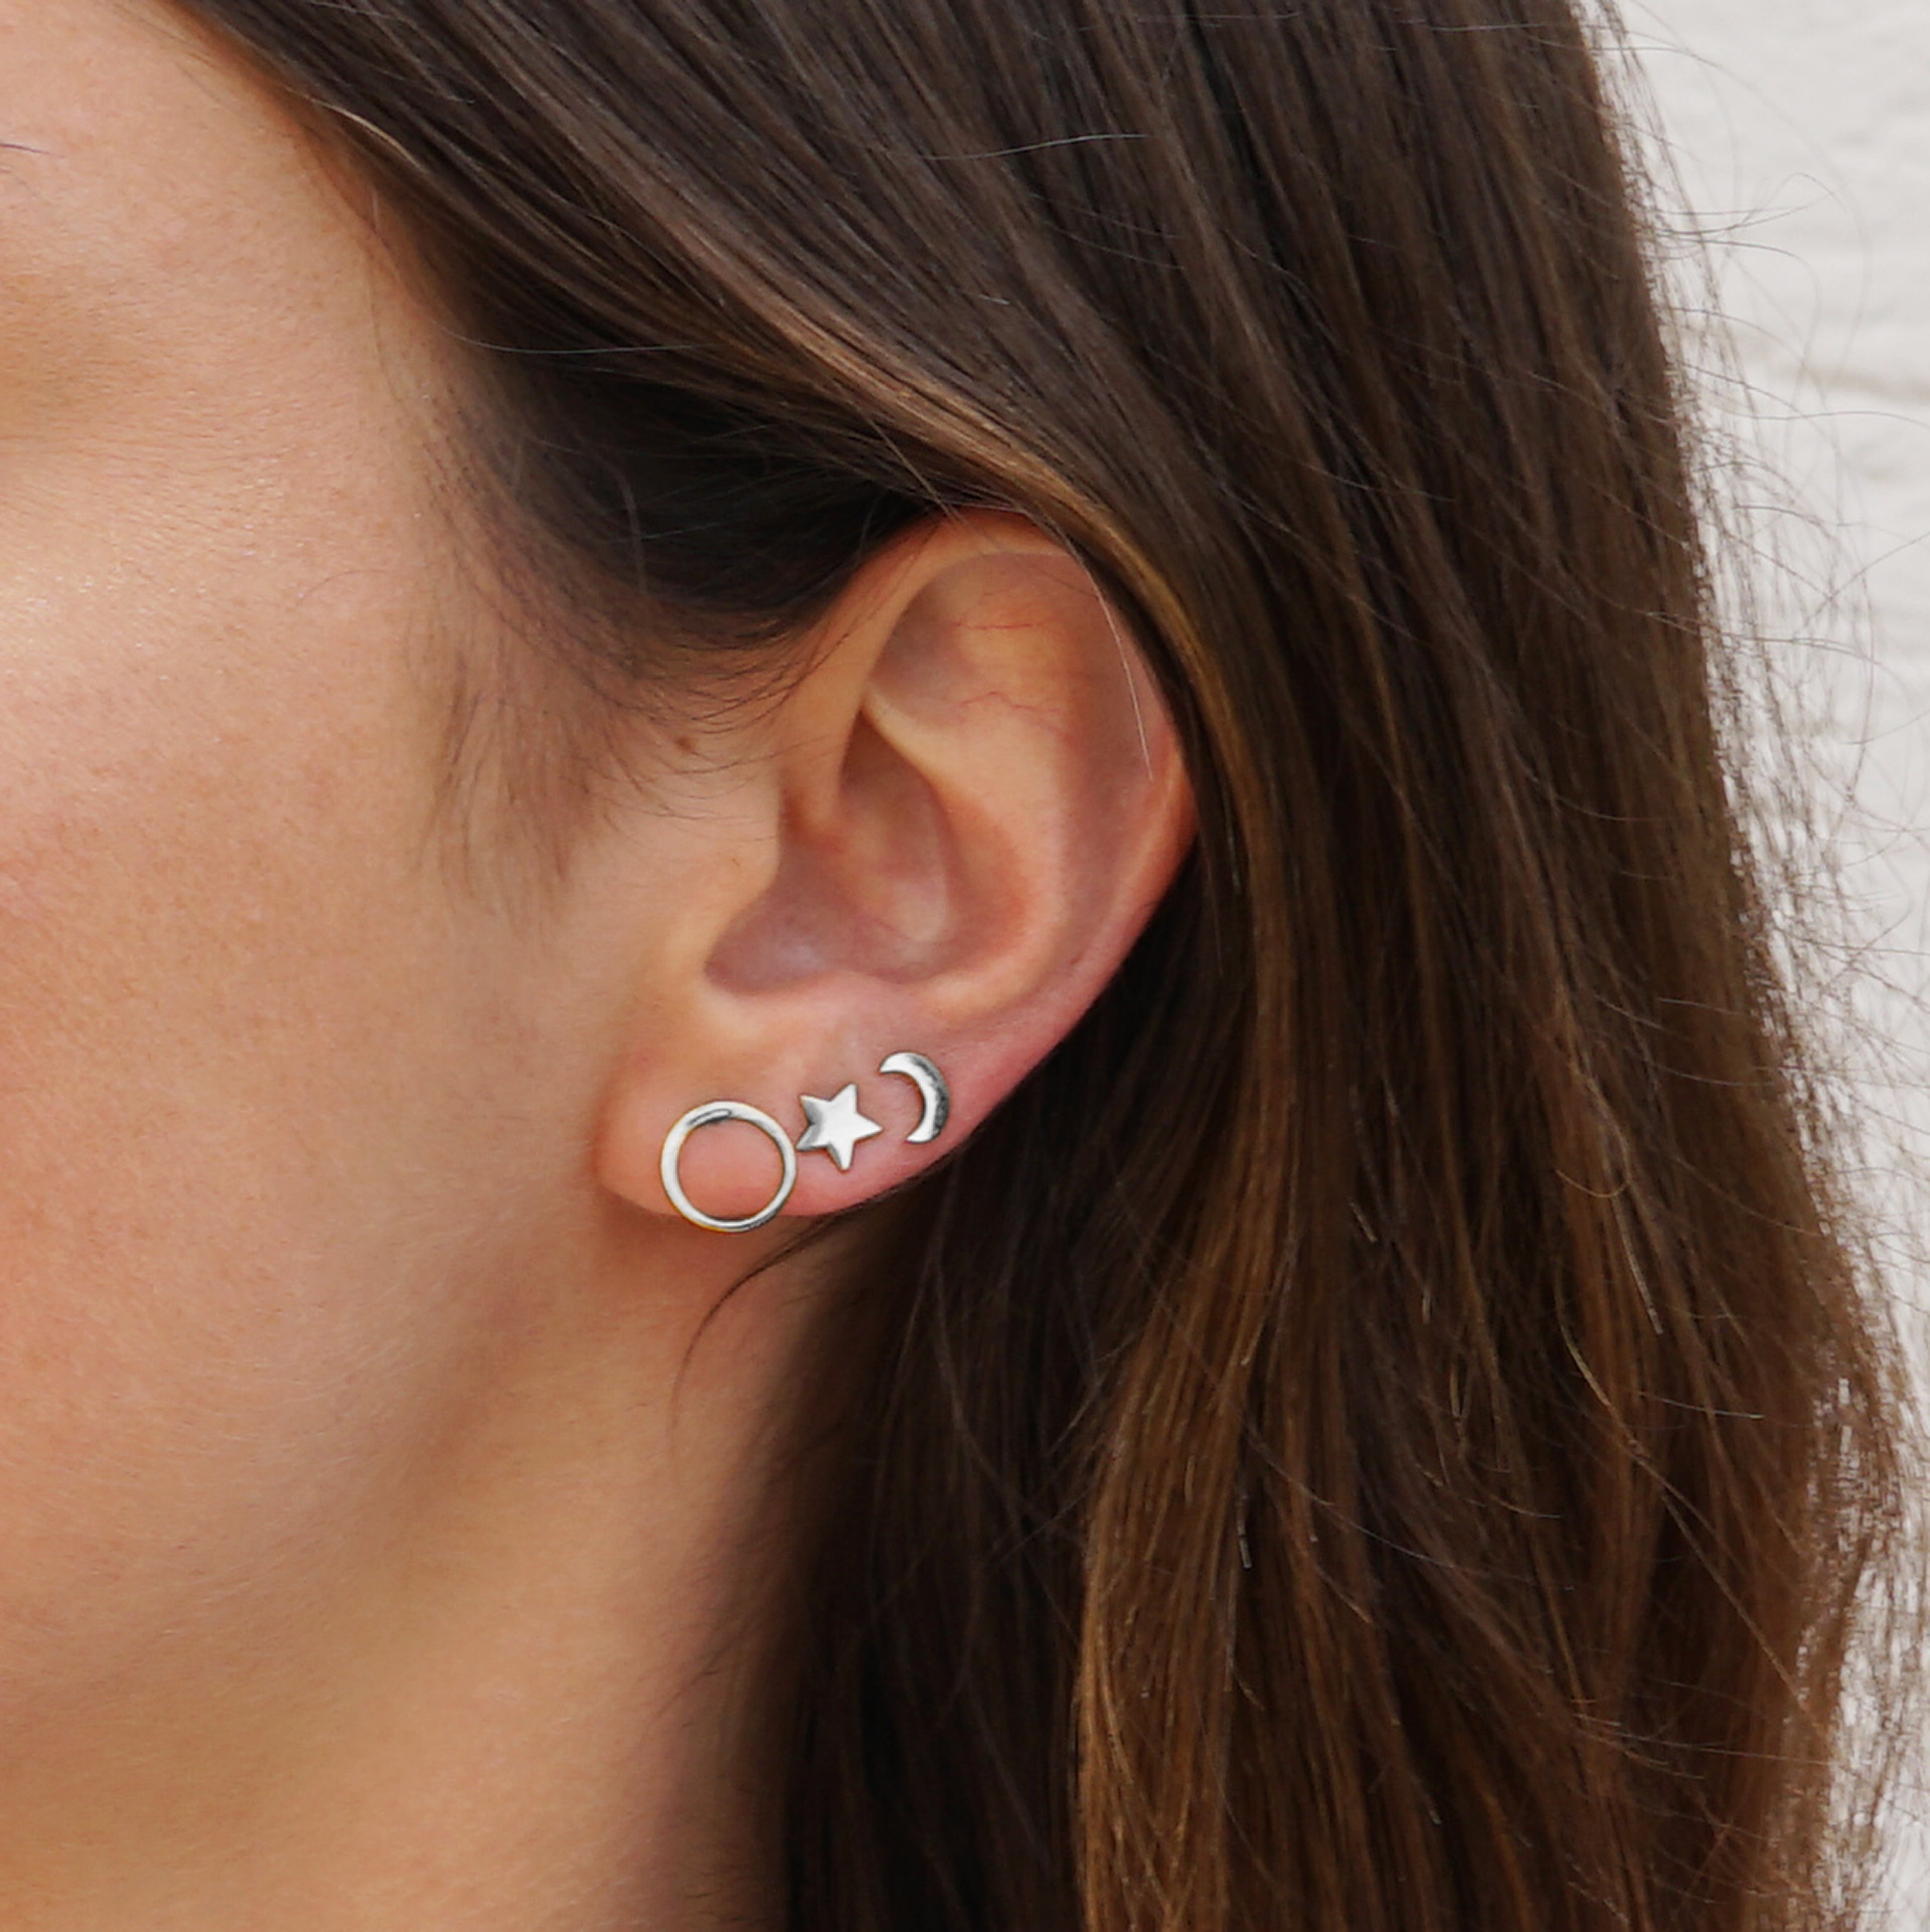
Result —
[[[1810, 796], [1847, 887], [1855, 1111], [1924, 1349], [1930, 1175], [1930, 0], [1625, 0], [1658, 197], [1698, 234], [1689, 350], [1731, 475]], [[1926, 1376], [1930, 1383], [1930, 1376]], [[1893, 1924], [1930, 1928], [1922, 1785]]]

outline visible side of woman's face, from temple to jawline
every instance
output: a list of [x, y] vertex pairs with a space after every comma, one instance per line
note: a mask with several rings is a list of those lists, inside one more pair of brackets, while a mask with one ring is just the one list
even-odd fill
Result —
[[514, 945], [433, 835], [435, 346], [224, 112], [143, 68], [0, 160], [0, 1716], [323, 1586], [518, 1151]]

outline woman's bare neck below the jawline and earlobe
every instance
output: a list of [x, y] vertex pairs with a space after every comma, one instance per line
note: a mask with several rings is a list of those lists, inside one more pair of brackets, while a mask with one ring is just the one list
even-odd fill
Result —
[[782, 1267], [676, 1316], [610, 1287], [487, 1337], [323, 1548], [25, 1700], [0, 1922], [777, 1922], [779, 1391], [813, 1296]]

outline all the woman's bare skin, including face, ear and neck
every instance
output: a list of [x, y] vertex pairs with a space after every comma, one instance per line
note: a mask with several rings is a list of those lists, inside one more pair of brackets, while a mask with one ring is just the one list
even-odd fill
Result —
[[[0, 0], [0, 1922], [775, 1922], [862, 1217], [726, 1291], [1115, 970], [1188, 835], [1151, 684], [1030, 526], [935, 524], [781, 703], [626, 723], [541, 895], [500, 823], [452, 866], [516, 639], [379, 211], [151, 4]], [[670, 1213], [686, 1107], [852, 1078], [848, 1175]]]

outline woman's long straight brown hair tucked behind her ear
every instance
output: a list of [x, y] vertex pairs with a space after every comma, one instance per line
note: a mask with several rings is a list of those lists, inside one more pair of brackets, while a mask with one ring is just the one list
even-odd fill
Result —
[[406, 211], [564, 607], [742, 661], [1001, 504], [1188, 748], [873, 1296], [792, 1924], [1849, 1922], [1891, 1381], [1569, 0], [191, 12]]

